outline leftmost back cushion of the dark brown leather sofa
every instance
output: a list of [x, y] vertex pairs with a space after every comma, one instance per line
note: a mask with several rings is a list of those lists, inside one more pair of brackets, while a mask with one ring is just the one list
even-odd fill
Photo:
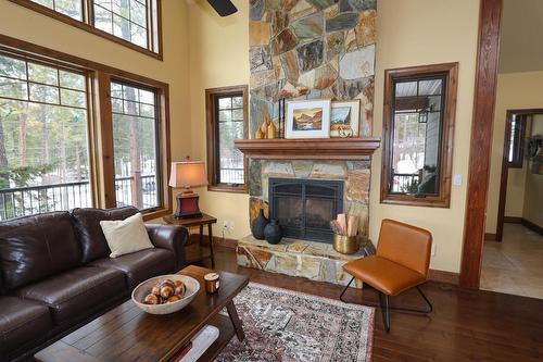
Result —
[[0, 223], [0, 269], [7, 289], [79, 265], [80, 250], [67, 212]]

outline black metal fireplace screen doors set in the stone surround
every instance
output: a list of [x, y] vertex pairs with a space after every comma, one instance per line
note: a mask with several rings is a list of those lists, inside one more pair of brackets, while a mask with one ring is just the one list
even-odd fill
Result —
[[343, 182], [269, 178], [269, 212], [285, 237], [331, 244], [330, 221], [343, 212]]

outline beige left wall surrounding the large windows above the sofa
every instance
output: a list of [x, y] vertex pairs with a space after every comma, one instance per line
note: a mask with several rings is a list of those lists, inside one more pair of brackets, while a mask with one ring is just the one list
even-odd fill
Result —
[[184, 1], [163, 1], [164, 61], [0, 0], [0, 34], [169, 84], [172, 158], [190, 153], [188, 37]]

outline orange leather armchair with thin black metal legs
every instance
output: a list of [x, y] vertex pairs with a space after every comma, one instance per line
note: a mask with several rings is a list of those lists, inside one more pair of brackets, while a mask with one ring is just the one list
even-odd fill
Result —
[[[433, 308], [418, 287], [428, 278], [432, 235], [430, 232], [393, 220], [383, 220], [379, 233], [376, 255], [362, 258], [343, 265], [353, 278], [341, 292], [340, 299], [353, 280], [359, 279], [379, 292], [379, 307], [382, 310], [384, 327], [390, 330], [390, 310], [428, 314]], [[428, 304], [428, 309], [414, 310], [393, 308], [390, 296], [397, 296], [409, 288], [417, 288]]]

